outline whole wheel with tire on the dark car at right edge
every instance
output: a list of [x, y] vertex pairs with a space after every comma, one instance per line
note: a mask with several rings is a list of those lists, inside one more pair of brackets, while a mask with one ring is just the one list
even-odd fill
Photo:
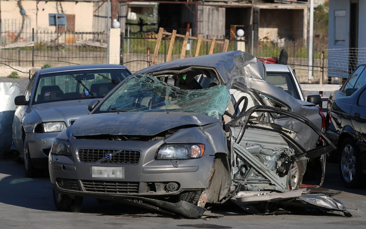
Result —
[[362, 181], [360, 149], [352, 138], [343, 140], [340, 148], [339, 172], [347, 188], [358, 188]]

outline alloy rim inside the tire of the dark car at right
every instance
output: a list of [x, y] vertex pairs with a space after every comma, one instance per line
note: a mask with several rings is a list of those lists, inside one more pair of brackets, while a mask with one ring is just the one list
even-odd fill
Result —
[[347, 144], [342, 151], [341, 171], [346, 182], [350, 183], [355, 179], [356, 155], [354, 148], [349, 144]]

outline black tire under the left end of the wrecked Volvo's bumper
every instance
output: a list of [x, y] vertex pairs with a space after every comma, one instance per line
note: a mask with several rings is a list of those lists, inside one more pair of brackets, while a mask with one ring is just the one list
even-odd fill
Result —
[[57, 210], [79, 213], [83, 204], [83, 197], [71, 198], [69, 195], [57, 193], [52, 189], [53, 202]]

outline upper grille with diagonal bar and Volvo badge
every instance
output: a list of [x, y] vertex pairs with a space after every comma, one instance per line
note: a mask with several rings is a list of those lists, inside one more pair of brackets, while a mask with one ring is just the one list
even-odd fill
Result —
[[[115, 152], [119, 153], [114, 154]], [[83, 163], [136, 165], [141, 152], [133, 150], [79, 149], [78, 158]]]

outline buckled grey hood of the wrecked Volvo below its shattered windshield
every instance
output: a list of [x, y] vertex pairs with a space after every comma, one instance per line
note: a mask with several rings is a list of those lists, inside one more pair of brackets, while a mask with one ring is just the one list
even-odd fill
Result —
[[125, 112], [91, 114], [72, 125], [72, 135], [153, 136], [180, 126], [204, 126], [219, 122], [204, 114], [183, 112]]

